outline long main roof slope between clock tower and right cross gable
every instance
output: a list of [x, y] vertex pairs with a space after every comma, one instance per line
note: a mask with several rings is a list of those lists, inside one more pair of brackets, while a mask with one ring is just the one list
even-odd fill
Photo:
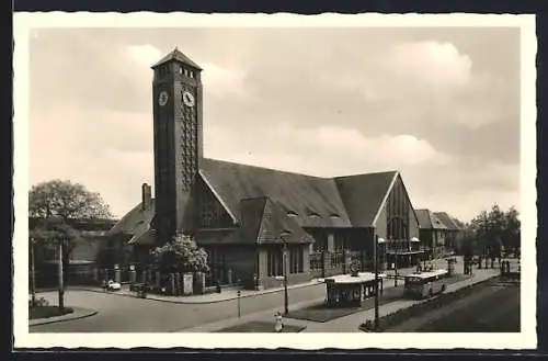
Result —
[[351, 226], [333, 179], [207, 158], [201, 174], [240, 223], [242, 200], [267, 196], [300, 226]]

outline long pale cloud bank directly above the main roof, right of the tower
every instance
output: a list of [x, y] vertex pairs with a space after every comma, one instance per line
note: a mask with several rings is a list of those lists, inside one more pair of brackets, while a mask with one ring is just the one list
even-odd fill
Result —
[[449, 159], [411, 135], [366, 137], [354, 128], [334, 125], [297, 128], [282, 123], [247, 129], [206, 126], [205, 143], [208, 157], [324, 177], [376, 171], [379, 167], [442, 165]]

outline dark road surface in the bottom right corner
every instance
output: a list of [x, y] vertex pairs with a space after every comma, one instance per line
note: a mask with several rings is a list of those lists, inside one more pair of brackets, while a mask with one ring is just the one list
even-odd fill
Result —
[[499, 282], [445, 307], [409, 319], [389, 332], [518, 332], [520, 287]]

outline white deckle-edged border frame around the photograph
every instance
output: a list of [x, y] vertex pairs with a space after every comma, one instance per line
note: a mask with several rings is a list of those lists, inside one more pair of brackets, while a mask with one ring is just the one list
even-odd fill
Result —
[[[28, 37], [35, 27], [521, 27], [521, 194], [522, 332], [520, 334], [28, 334], [27, 190], [28, 190]], [[14, 207], [13, 315], [16, 348], [536, 348], [536, 34], [534, 15], [498, 14], [157, 14], [15, 13], [14, 14]]]

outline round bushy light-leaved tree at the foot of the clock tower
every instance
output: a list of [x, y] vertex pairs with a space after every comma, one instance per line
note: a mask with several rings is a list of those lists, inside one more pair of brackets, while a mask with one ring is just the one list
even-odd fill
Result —
[[152, 250], [152, 257], [163, 272], [208, 272], [207, 252], [192, 237], [179, 234], [162, 247]]

